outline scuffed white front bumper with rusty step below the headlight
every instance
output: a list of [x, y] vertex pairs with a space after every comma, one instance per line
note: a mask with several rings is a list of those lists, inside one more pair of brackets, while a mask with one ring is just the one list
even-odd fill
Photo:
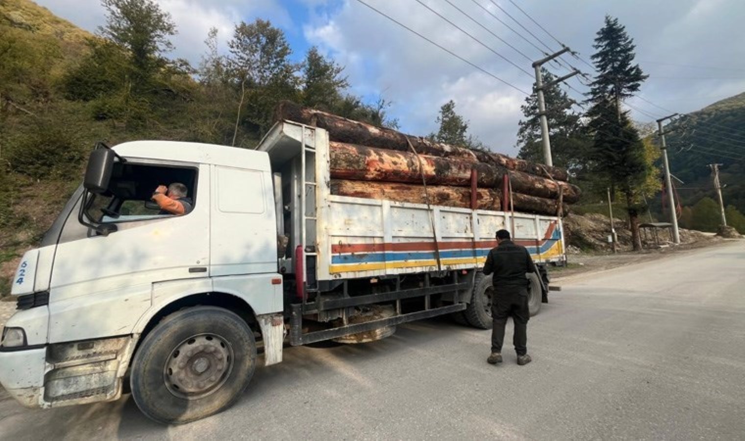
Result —
[[0, 352], [0, 384], [25, 407], [112, 401], [135, 343], [125, 336]]

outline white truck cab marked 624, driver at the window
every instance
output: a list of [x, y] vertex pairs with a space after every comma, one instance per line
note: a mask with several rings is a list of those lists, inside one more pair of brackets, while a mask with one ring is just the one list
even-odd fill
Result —
[[[150, 203], [155, 188], [170, 183], [188, 188], [187, 215], [164, 215]], [[284, 326], [281, 315], [272, 326], [282, 311], [273, 199], [264, 152], [159, 141], [95, 150], [85, 184], [19, 264], [11, 293], [19, 311], [4, 329], [0, 383], [29, 407], [117, 399], [135, 347], [147, 343], [139, 335], [194, 305], [244, 304], [249, 323], [279, 338], [266, 358], [279, 362]], [[253, 340], [253, 331], [234, 321], [235, 335], [195, 329], [170, 355], [181, 352], [174, 366], [154, 368], [171, 372], [170, 390], [193, 399], [226, 381], [228, 369], [253, 372], [255, 346], [236, 344]], [[221, 371], [218, 358], [226, 360]], [[241, 367], [236, 358], [248, 362]]]

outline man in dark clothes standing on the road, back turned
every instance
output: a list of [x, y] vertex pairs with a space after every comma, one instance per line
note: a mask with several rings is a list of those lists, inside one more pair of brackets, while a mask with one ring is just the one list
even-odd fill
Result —
[[513, 317], [515, 323], [515, 352], [517, 364], [524, 366], [530, 363], [527, 355], [527, 320], [530, 311], [527, 308], [527, 287], [530, 283], [527, 273], [535, 273], [536, 265], [530, 253], [521, 245], [510, 240], [510, 232], [500, 229], [497, 232], [497, 246], [489, 251], [484, 264], [484, 274], [492, 276], [494, 296], [492, 297], [492, 355], [486, 359], [490, 364], [501, 363], [502, 343], [504, 343], [504, 326], [507, 317]]

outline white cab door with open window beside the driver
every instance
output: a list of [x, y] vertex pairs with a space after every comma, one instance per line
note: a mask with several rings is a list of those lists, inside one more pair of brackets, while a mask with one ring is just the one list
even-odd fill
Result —
[[[51, 274], [51, 343], [127, 334], [150, 307], [154, 282], [209, 276], [209, 173], [209, 165], [130, 159], [83, 212], [116, 231], [100, 235], [78, 222], [77, 210], [69, 216]], [[188, 214], [145, 206], [171, 183], [186, 185]]]

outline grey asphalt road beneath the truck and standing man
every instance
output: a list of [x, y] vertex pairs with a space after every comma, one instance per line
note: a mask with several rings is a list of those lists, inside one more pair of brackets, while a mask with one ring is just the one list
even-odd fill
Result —
[[26, 410], [0, 391], [0, 439], [745, 438], [745, 241], [562, 287], [528, 324], [525, 367], [511, 348], [486, 364], [488, 331], [430, 320], [289, 348], [238, 404], [189, 425], [150, 422], [129, 396]]

